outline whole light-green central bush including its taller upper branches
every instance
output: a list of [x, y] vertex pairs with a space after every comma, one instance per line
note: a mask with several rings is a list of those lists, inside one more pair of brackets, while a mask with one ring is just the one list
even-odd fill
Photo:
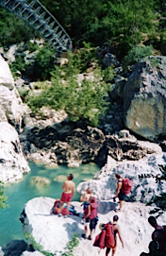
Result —
[[92, 125], [97, 126], [100, 115], [108, 107], [105, 96], [109, 85], [101, 80], [104, 75], [97, 66], [94, 71], [95, 81], [84, 79], [81, 85], [78, 85], [77, 76], [83, 68], [79, 57], [70, 53], [69, 63], [62, 68], [56, 67], [51, 73], [51, 86], [41, 94], [34, 94], [27, 98], [32, 111], [40, 111], [42, 106], [65, 110], [71, 120], [77, 121], [84, 117], [91, 121]]

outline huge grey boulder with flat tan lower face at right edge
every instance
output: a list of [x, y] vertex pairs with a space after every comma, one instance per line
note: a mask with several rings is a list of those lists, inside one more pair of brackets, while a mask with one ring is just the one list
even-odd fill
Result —
[[125, 126], [155, 141], [166, 136], [166, 57], [149, 57], [134, 66], [124, 89]]

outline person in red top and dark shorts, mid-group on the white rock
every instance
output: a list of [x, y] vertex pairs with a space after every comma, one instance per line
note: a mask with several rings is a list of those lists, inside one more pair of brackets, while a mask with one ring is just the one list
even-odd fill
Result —
[[95, 230], [95, 227], [97, 225], [97, 207], [98, 202], [96, 198], [94, 196], [91, 196], [89, 199], [89, 204], [84, 210], [84, 234], [82, 234], [82, 237], [85, 239], [87, 238], [88, 226], [90, 225], [90, 235], [88, 239], [91, 240], [92, 230]]

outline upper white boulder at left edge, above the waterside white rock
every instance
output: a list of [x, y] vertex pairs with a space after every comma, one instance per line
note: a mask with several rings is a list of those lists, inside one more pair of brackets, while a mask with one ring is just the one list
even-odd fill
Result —
[[8, 122], [18, 130], [24, 115], [24, 105], [14, 85], [14, 79], [0, 55], [0, 122]]

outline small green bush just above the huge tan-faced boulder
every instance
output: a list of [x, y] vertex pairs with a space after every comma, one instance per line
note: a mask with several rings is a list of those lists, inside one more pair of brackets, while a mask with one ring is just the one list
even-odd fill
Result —
[[132, 65], [141, 60], [141, 58], [153, 55], [153, 46], [147, 45], [147, 46], [137, 46], [132, 48], [128, 55], [125, 56], [125, 65]]

